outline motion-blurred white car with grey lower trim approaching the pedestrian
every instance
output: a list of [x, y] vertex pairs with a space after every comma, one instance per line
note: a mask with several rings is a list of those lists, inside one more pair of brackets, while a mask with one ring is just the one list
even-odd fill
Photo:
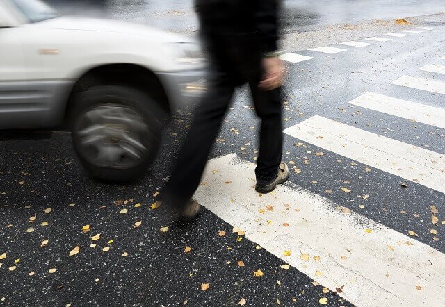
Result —
[[200, 95], [204, 72], [199, 45], [181, 35], [0, 0], [0, 129], [68, 126], [99, 179], [145, 172], [165, 118]]

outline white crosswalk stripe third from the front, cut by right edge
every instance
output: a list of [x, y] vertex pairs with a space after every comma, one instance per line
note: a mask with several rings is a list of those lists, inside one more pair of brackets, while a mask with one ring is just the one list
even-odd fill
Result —
[[423, 124], [445, 129], [445, 109], [426, 106], [403, 99], [397, 99], [373, 92], [349, 101], [350, 104], [368, 108], [389, 115], [402, 117]]

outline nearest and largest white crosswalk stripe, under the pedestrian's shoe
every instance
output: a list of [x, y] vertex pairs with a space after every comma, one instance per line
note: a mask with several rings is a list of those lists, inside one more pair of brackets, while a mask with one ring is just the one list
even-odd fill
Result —
[[357, 306], [442, 306], [444, 254], [292, 183], [260, 196], [254, 168], [236, 154], [210, 160], [194, 199]]

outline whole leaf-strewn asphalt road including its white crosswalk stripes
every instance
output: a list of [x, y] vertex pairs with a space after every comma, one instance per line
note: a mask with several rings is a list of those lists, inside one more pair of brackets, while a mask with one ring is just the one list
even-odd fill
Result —
[[188, 111], [127, 186], [89, 179], [67, 133], [1, 133], [0, 305], [441, 306], [445, 18], [382, 27], [283, 57], [291, 177], [272, 194], [252, 188], [259, 122], [236, 92], [191, 224], [151, 207]]

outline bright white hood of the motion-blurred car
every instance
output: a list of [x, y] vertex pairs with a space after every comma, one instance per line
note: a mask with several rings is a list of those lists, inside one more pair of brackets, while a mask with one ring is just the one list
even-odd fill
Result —
[[176, 33], [161, 31], [156, 28], [144, 26], [141, 24], [131, 24], [129, 22], [120, 22], [109, 19], [96, 19], [86, 17], [61, 16], [39, 22], [38, 26], [42, 28], [60, 29], [67, 31], [97, 31], [126, 33], [129, 35], [138, 35], [149, 37], [160, 42], [193, 42], [191, 38]]

